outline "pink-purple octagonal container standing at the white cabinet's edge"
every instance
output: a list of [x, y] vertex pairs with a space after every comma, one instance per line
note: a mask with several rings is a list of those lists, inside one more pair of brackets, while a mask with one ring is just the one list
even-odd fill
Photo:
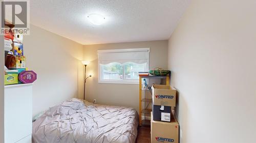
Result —
[[18, 79], [22, 83], [33, 83], [36, 78], [36, 73], [34, 71], [23, 71], [18, 75]]

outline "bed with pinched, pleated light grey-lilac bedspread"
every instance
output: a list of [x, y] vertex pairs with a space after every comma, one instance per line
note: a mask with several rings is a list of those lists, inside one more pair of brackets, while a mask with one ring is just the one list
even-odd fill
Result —
[[33, 122], [33, 142], [135, 143], [134, 108], [99, 105], [73, 98], [50, 107]]

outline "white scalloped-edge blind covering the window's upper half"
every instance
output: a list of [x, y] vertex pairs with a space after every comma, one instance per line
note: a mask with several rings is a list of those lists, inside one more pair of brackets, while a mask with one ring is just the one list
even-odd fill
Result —
[[99, 64], [109, 64], [112, 62], [142, 64], [148, 62], [149, 52], [150, 48], [98, 50], [98, 61]]

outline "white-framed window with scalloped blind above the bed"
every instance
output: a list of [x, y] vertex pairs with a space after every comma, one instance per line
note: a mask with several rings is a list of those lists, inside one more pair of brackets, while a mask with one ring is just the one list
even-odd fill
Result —
[[138, 84], [148, 70], [149, 48], [98, 50], [99, 83]]

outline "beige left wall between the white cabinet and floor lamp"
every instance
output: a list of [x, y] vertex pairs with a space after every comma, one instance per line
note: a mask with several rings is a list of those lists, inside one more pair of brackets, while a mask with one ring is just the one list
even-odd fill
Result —
[[83, 91], [82, 45], [31, 25], [24, 37], [27, 67], [37, 73], [33, 115]]

